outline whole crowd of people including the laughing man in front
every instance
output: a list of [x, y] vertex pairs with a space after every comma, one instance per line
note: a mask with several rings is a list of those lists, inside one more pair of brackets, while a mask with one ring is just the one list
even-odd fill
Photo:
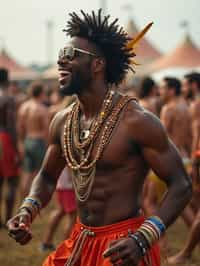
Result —
[[[158, 244], [170, 247], [165, 232], [182, 215], [188, 241], [168, 258], [182, 263], [200, 235], [200, 74], [159, 84], [147, 77], [129, 96], [119, 93], [135, 41], [101, 10], [81, 13], [70, 14], [65, 29], [71, 41], [59, 54], [54, 104], [41, 82], [27, 97], [12, 95], [0, 70], [1, 192], [8, 185], [1, 226], [8, 221], [9, 236], [28, 243], [32, 222], [56, 191], [59, 208], [40, 249], [54, 249], [66, 213], [68, 226], [44, 266], [159, 266]], [[23, 201], [12, 217], [17, 189]]]

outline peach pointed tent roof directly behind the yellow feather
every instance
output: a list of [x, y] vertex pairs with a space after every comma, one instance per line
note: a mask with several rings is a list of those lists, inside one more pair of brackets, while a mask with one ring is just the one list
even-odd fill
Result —
[[[132, 19], [129, 20], [126, 30], [131, 37], [136, 36], [139, 32], [138, 27]], [[161, 53], [145, 37], [140, 40], [135, 51], [137, 57], [143, 62], [151, 62], [161, 56]]]

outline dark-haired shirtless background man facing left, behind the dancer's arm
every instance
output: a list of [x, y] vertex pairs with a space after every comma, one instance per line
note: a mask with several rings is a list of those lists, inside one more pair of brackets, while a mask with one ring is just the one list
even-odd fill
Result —
[[[190, 171], [191, 118], [188, 104], [181, 95], [180, 81], [172, 77], [164, 78], [160, 86], [160, 96], [165, 103], [160, 119], [179, 150], [186, 170]], [[183, 218], [187, 225], [192, 223], [191, 212], [188, 208], [185, 209]]]

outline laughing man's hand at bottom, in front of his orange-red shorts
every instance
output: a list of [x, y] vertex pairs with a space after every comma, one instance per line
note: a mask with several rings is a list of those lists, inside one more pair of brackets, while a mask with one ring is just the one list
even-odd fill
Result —
[[112, 241], [103, 256], [110, 258], [113, 265], [120, 266], [137, 266], [142, 259], [140, 248], [130, 237]]

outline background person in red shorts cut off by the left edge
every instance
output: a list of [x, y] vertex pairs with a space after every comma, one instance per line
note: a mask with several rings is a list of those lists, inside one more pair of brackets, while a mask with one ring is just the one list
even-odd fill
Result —
[[18, 184], [18, 156], [16, 145], [16, 109], [14, 98], [8, 95], [8, 71], [0, 69], [0, 211], [2, 210], [2, 189], [7, 181], [5, 195], [6, 212], [0, 227], [12, 216], [15, 194]]

